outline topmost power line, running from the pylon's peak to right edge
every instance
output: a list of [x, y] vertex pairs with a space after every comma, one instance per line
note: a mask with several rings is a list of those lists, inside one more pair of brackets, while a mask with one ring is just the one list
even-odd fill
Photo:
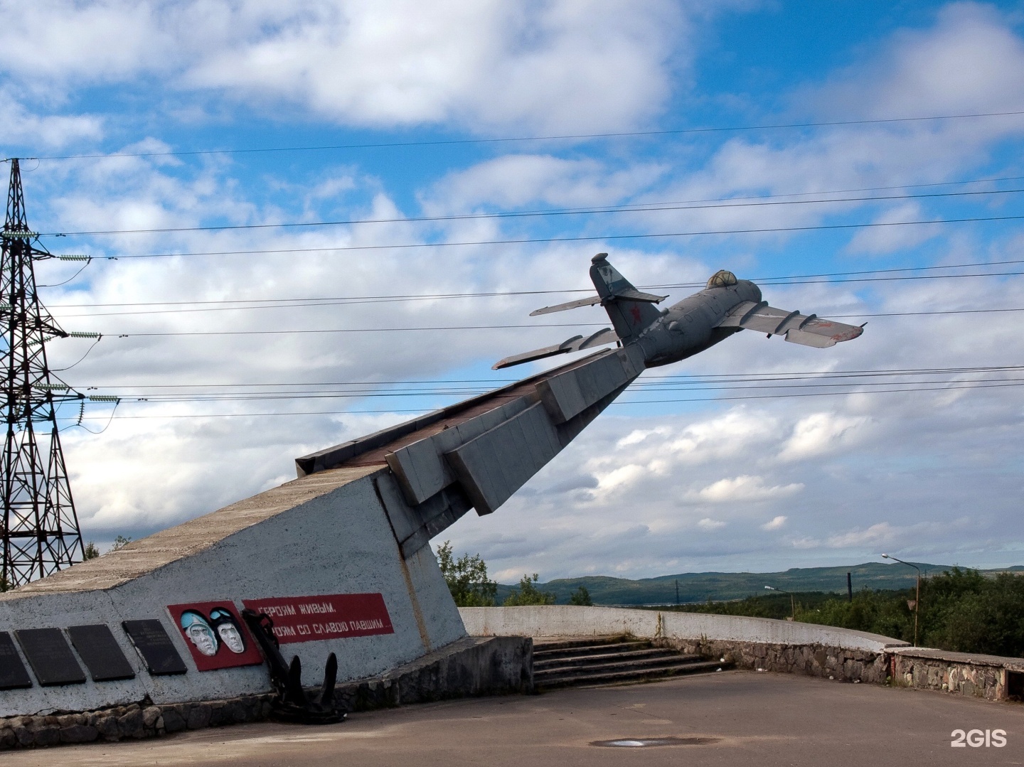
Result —
[[374, 143], [348, 143], [348, 144], [326, 144], [306, 146], [266, 146], [245, 150], [187, 150], [179, 152], [136, 152], [117, 153], [113, 155], [50, 155], [26, 160], [95, 160], [108, 158], [146, 158], [146, 157], [193, 157], [202, 155], [251, 155], [257, 153], [291, 153], [291, 152], [328, 152], [336, 150], [369, 150], [369, 148], [394, 148], [402, 146], [444, 146], [458, 144], [497, 144], [510, 143], [516, 141], [559, 141], [559, 140], [585, 140], [595, 138], [634, 138], [641, 136], [669, 136], [687, 135], [698, 133], [725, 133], [750, 130], [781, 130], [792, 128], [835, 128], [851, 125], [884, 125], [899, 123], [920, 123], [928, 121], [942, 120], [966, 120], [991, 117], [1016, 117], [1024, 115], [1022, 112], [986, 112], [963, 115], [933, 115], [930, 117], [900, 117], [900, 118], [878, 118], [873, 120], [831, 120], [827, 122], [807, 122], [807, 123], [774, 123], [765, 125], [735, 125], [712, 128], [676, 128], [670, 130], [643, 130], [643, 131], [618, 131], [614, 133], [570, 133], [548, 136], [509, 136], [499, 138], [451, 138], [435, 139], [430, 141], [381, 141]]

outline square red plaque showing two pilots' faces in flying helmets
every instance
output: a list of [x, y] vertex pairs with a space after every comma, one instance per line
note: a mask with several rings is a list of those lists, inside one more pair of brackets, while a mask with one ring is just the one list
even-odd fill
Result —
[[256, 642], [231, 600], [172, 604], [167, 609], [184, 636], [200, 671], [263, 663]]

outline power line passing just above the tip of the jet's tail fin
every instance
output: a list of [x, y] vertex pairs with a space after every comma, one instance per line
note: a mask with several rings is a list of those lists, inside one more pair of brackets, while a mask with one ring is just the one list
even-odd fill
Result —
[[912, 226], [919, 224], [979, 223], [989, 221], [1016, 221], [1020, 216], [979, 216], [973, 218], [946, 218], [923, 221], [872, 221], [869, 223], [816, 224], [811, 226], [771, 226], [751, 229], [706, 229], [699, 231], [664, 231], [642, 235], [595, 235], [589, 237], [521, 238], [517, 240], [470, 240], [456, 243], [394, 243], [390, 245], [340, 245], [330, 248], [285, 248], [268, 250], [200, 251], [194, 253], [144, 253], [122, 256], [96, 256], [96, 259], [119, 260], [127, 258], [177, 258], [180, 256], [233, 256], [266, 255], [274, 253], [328, 253], [377, 250], [407, 250], [410, 248], [457, 248], [475, 245], [543, 245], [546, 243], [589, 243], [610, 240], [653, 240], [658, 238], [705, 237], [717, 235], [770, 235], [783, 231], [818, 231], [827, 229], [860, 229], [874, 226]]

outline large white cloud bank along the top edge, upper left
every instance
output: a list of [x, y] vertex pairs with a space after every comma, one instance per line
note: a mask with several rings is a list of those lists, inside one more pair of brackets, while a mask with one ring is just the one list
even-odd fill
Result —
[[0, 9], [0, 66], [31, 85], [162, 78], [345, 124], [622, 129], [685, 71], [699, 4], [647, 0], [41, 0]]

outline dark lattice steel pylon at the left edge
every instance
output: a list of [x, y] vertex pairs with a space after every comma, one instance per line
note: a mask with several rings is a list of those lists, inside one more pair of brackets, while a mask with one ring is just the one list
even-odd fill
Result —
[[7, 420], [0, 496], [2, 577], [9, 588], [82, 559], [82, 534], [68, 483], [56, 403], [79, 399], [46, 364], [46, 342], [67, 337], [39, 303], [35, 261], [53, 258], [33, 247], [17, 160], [10, 161], [7, 218], [0, 259], [0, 397]]

